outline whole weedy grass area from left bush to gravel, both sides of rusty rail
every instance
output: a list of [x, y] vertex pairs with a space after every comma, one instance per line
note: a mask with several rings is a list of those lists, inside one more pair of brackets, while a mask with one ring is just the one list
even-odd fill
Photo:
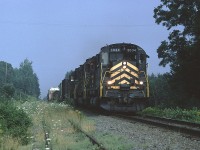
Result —
[[108, 149], [130, 149], [133, 146], [119, 135], [96, 132], [95, 122], [69, 105], [28, 100], [24, 103], [15, 102], [15, 106], [23, 109], [32, 120], [27, 133], [29, 136], [26, 137], [29, 144], [22, 145], [17, 138], [1, 135], [0, 144], [4, 145], [4, 149], [45, 149], [45, 132], [49, 133], [50, 147], [54, 150], [99, 149], [78, 132], [76, 127], [94, 136]]

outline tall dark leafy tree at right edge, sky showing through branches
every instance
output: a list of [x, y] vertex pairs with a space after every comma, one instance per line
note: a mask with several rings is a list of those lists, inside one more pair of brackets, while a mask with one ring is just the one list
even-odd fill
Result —
[[200, 99], [200, 1], [161, 2], [154, 9], [155, 21], [172, 32], [157, 49], [160, 65], [170, 65], [174, 90], [185, 98]]

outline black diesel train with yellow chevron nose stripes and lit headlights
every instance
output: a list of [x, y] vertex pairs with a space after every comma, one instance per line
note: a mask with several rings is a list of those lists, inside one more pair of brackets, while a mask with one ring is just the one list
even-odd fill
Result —
[[62, 81], [62, 99], [109, 111], [142, 110], [149, 97], [147, 58], [135, 44], [106, 45]]

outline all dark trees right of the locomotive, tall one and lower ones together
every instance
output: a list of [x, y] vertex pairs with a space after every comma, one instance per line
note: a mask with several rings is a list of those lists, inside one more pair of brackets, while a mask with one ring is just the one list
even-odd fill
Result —
[[200, 107], [200, 1], [161, 0], [154, 18], [170, 31], [157, 49], [170, 72], [149, 77], [153, 102]]

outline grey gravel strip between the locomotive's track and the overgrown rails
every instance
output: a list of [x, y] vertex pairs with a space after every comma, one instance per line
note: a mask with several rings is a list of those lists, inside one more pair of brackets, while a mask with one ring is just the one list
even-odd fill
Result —
[[109, 116], [88, 116], [96, 122], [98, 132], [121, 135], [133, 142], [132, 150], [200, 150], [200, 139], [178, 132], [147, 125], [130, 123]]

